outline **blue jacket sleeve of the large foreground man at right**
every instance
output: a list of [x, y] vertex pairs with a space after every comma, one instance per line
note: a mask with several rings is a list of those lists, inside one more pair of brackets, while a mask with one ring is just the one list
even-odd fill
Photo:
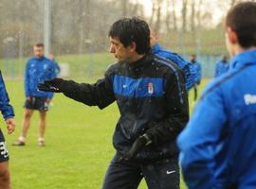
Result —
[[226, 122], [220, 89], [203, 96], [186, 129], [177, 139], [184, 180], [190, 189], [218, 185], [214, 178], [217, 145]]

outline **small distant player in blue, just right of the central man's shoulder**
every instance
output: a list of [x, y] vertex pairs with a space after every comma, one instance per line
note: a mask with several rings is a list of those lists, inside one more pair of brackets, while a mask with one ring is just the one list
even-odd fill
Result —
[[196, 56], [194, 54], [192, 54], [190, 56], [190, 60], [193, 64], [193, 67], [194, 67], [195, 72], [196, 72], [195, 82], [194, 82], [194, 85], [192, 87], [193, 92], [194, 92], [193, 102], [195, 102], [196, 99], [197, 99], [197, 86], [200, 85], [201, 79], [202, 79], [202, 68], [201, 68], [201, 64], [196, 60]]

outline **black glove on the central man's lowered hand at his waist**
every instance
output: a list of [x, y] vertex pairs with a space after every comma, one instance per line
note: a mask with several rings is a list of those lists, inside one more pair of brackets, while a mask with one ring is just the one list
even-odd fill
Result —
[[143, 134], [142, 136], [139, 136], [137, 140], [134, 142], [133, 146], [124, 153], [120, 159], [119, 162], [128, 161], [134, 158], [137, 155], [137, 152], [141, 150], [144, 146], [148, 146], [152, 143], [150, 138], [147, 134]]

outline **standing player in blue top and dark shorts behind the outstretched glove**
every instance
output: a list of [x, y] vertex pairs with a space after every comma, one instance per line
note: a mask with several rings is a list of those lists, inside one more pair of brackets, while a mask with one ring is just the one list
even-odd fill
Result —
[[37, 85], [47, 79], [56, 77], [57, 66], [52, 60], [44, 55], [44, 44], [37, 43], [33, 46], [35, 57], [27, 61], [25, 71], [25, 111], [22, 123], [22, 132], [14, 146], [25, 146], [27, 130], [30, 125], [30, 118], [37, 110], [40, 112], [38, 145], [45, 146], [44, 135], [46, 131], [46, 112], [48, 111], [53, 93], [39, 91]]

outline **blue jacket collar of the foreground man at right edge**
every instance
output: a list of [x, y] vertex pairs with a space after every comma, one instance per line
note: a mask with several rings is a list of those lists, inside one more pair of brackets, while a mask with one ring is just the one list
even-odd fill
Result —
[[256, 64], [256, 50], [247, 50], [236, 55], [230, 61], [230, 68], [242, 67], [248, 64]]

